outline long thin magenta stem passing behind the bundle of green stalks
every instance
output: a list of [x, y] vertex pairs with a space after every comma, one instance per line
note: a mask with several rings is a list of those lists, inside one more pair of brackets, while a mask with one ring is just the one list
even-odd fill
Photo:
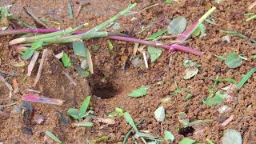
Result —
[[[28, 34], [28, 33], [38, 33], [38, 34], [47, 34], [59, 31], [59, 29], [20, 29], [20, 30], [0, 30], [0, 36], [3, 35], [10, 35], [10, 34]], [[85, 33], [85, 30], [78, 30], [75, 31], [74, 34], [82, 34]], [[107, 38], [114, 39], [114, 40], [120, 40], [125, 42], [137, 42], [141, 43], [143, 45], [150, 45], [150, 46], [156, 46], [161, 47], [166, 50], [171, 51], [182, 51], [185, 53], [195, 54], [195, 55], [202, 55], [202, 52], [199, 50], [194, 50], [191, 47], [188, 46], [181, 46], [181, 45], [166, 45], [162, 44], [161, 42], [154, 42], [154, 41], [146, 41], [143, 39], [138, 38], [128, 38], [128, 37], [122, 37], [122, 36], [108, 36]]]

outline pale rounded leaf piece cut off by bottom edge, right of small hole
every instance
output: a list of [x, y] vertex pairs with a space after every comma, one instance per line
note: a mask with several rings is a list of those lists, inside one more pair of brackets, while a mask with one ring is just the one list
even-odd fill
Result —
[[242, 136], [237, 130], [227, 129], [222, 137], [222, 143], [242, 144]]

